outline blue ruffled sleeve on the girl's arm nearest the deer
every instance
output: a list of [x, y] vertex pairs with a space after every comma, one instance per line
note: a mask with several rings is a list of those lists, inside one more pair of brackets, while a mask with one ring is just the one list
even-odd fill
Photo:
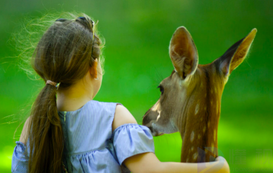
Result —
[[120, 165], [133, 155], [153, 152], [154, 143], [149, 128], [138, 124], [124, 124], [112, 134], [114, 148]]

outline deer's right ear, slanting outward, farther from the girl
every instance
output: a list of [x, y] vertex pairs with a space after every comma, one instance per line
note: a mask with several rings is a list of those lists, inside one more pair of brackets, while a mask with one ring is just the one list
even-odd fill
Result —
[[243, 39], [233, 44], [219, 59], [216, 61], [224, 76], [229, 76], [245, 59], [251, 43], [254, 40], [257, 29], [254, 28]]

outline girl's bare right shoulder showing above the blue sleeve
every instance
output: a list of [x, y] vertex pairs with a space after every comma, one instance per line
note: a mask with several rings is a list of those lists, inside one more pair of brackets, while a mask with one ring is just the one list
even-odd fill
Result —
[[129, 123], [137, 124], [137, 121], [126, 107], [121, 104], [117, 104], [114, 120], [112, 123], [112, 131], [121, 125]]

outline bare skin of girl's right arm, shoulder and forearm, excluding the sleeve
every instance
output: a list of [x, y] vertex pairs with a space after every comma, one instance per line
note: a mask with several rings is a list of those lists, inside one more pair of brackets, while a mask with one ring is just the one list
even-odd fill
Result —
[[[119, 126], [126, 123], [137, 124], [135, 118], [129, 112], [129, 110], [123, 105], [117, 105], [112, 124], [112, 130], [114, 131]], [[126, 158], [123, 163], [132, 171], [132, 173], [150, 173], [150, 172], [219, 172], [229, 173], [230, 167], [224, 157], [217, 157], [216, 161], [205, 163], [180, 163], [180, 162], [161, 162], [152, 152], [146, 152], [136, 154]]]

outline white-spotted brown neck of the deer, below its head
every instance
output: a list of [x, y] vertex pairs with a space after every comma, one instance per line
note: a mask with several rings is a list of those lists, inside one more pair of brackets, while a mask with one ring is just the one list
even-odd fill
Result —
[[208, 162], [218, 155], [217, 130], [223, 89], [213, 86], [204, 90], [207, 91], [204, 95], [187, 100], [181, 111], [181, 162]]

